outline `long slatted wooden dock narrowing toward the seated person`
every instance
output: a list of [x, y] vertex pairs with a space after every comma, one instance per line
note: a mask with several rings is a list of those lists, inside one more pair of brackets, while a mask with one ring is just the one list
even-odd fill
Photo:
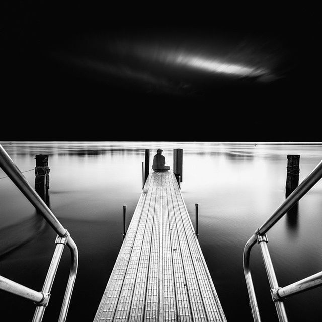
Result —
[[173, 173], [149, 175], [94, 321], [226, 321]]

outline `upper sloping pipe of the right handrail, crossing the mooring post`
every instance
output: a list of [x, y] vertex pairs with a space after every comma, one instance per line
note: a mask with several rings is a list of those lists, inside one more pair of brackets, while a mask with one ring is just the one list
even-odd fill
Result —
[[301, 184], [288, 196], [288, 198], [277, 208], [258, 229], [258, 234], [263, 236], [275, 223], [289, 211], [315, 184], [322, 178], [322, 161], [313, 171], [301, 182]]

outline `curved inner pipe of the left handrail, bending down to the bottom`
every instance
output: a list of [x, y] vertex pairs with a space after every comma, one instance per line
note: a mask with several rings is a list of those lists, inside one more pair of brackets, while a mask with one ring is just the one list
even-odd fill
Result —
[[78, 269], [78, 249], [77, 245], [75, 244], [74, 240], [69, 236], [67, 240], [67, 246], [70, 249], [71, 255], [71, 265], [70, 265], [70, 272], [68, 277], [68, 283], [64, 295], [64, 299], [61, 305], [61, 310], [58, 318], [58, 322], [65, 322], [67, 318], [68, 308], [70, 304], [70, 299], [72, 295], [72, 291], [75, 285], [77, 269]]

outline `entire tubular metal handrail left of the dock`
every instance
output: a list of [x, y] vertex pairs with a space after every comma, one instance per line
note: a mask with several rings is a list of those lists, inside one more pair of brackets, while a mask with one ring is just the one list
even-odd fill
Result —
[[55, 241], [56, 248], [48, 268], [47, 276], [43, 284], [41, 292], [32, 290], [26, 286], [18, 284], [14, 281], [0, 276], [0, 289], [19, 295], [33, 301], [37, 307], [33, 317], [33, 322], [41, 322], [45, 309], [48, 305], [50, 291], [53, 281], [56, 276], [57, 268], [61, 259], [62, 252], [65, 245], [68, 246], [71, 253], [71, 265], [68, 277], [68, 282], [65, 290], [63, 303], [60, 310], [58, 322], [65, 322], [70, 299], [75, 284], [78, 268], [78, 250], [74, 240], [70, 237], [69, 232], [61, 225], [56, 216], [48, 208], [46, 203], [39, 197], [36, 191], [31, 187], [27, 179], [21, 173], [19, 168], [15, 165], [6, 150], [0, 144], [0, 167], [19, 188], [19, 190], [26, 196], [31, 204], [38, 210], [38, 212], [45, 218], [49, 225], [57, 233]]

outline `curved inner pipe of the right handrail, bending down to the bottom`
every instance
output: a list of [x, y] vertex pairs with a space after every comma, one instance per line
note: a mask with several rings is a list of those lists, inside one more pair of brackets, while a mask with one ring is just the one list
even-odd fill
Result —
[[257, 305], [256, 294], [255, 294], [251, 268], [250, 268], [251, 249], [256, 244], [256, 242], [257, 242], [257, 238], [255, 235], [253, 235], [247, 241], [244, 247], [244, 253], [243, 253], [243, 267], [244, 267], [244, 275], [245, 275], [248, 295], [250, 298], [250, 304], [252, 308], [253, 319], [254, 319], [254, 322], [261, 322], [260, 311]]

